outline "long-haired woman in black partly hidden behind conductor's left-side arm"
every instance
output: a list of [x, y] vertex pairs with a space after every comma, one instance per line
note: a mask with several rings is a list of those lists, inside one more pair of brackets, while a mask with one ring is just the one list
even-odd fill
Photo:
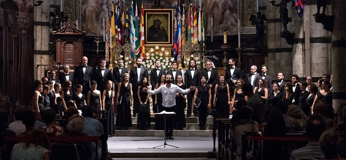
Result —
[[[162, 74], [159, 82], [156, 84], [156, 88], [166, 84], [166, 75]], [[158, 93], [155, 95], [155, 106], [157, 107], [157, 112], [160, 113], [163, 111], [162, 106], [162, 94]], [[165, 129], [165, 121], [163, 117], [155, 117], [155, 130], [164, 130]]]

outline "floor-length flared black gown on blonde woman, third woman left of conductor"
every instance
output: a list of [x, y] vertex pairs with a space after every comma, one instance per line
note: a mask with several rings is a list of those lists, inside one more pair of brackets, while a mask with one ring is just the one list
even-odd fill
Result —
[[118, 103], [119, 103], [117, 106], [118, 113], [117, 113], [117, 120], [115, 122], [115, 125], [121, 126], [124, 128], [132, 127], [131, 108], [130, 108], [130, 83], [128, 83], [127, 86], [125, 86], [124, 83], [121, 83]]

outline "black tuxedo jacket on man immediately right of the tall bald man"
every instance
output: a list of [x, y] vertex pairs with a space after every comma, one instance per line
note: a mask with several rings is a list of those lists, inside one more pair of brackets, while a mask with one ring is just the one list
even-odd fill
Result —
[[107, 81], [112, 81], [112, 72], [105, 68], [102, 76], [101, 71], [101, 69], [95, 70], [94, 80], [97, 82], [97, 90], [103, 93], [103, 90], [106, 89]]

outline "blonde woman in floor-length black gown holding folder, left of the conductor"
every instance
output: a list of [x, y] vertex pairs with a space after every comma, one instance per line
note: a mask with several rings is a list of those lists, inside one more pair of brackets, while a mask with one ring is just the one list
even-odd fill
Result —
[[122, 82], [118, 85], [117, 101], [118, 109], [117, 120], [115, 125], [121, 126], [127, 130], [127, 127], [132, 127], [131, 108], [132, 105], [132, 85], [129, 82], [130, 75], [125, 73], [122, 75]]

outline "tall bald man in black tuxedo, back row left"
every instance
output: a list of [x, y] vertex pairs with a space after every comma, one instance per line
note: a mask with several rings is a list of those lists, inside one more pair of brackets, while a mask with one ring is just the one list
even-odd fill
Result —
[[74, 70], [74, 81], [76, 85], [82, 85], [82, 94], [87, 95], [90, 90], [90, 81], [93, 80], [93, 68], [88, 65], [88, 58], [82, 57], [82, 65], [76, 66]]

